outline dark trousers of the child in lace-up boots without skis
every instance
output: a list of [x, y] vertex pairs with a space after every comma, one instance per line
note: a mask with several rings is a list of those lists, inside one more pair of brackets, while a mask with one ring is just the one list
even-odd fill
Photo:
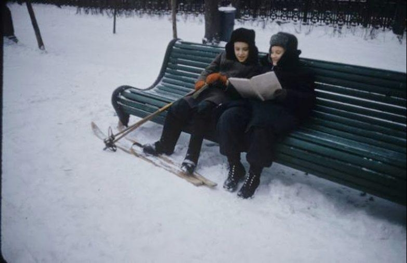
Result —
[[270, 167], [277, 136], [270, 128], [255, 126], [246, 130], [250, 118], [250, 110], [244, 107], [229, 108], [222, 113], [217, 123], [221, 154], [233, 162], [240, 160], [240, 153], [245, 151], [251, 167]]

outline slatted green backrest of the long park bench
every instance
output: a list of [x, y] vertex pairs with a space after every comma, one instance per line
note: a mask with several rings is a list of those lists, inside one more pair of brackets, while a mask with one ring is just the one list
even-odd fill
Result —
[[[169, 96], [184, 95], [222, 50], [176, 42], [157, 88]], [[301, 61], [315, 73], [315, 124], [323, 123], [406, 152], [406, 74], [312, 59]]]

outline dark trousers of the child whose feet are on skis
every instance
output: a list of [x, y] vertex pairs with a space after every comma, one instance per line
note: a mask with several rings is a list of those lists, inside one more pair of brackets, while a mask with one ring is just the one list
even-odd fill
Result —
[[202, 101], [195, 107], [191, 107], [185, 99], [175, 102], [165, 118], [158, 144], [160, 150], [167, 154], [174, 152], [182, 130], [191, 125], [191, 137], [185, 158], [197, 163], [204, 135], [211, 127], [211, 117], [215, 108], [216, 105], [208, 101]]

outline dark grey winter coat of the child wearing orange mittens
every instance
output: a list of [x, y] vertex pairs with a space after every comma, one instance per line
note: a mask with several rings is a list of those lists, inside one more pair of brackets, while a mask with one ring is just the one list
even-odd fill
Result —
[[[256, 48], [257, 51], [257, 48]], [[233, 51], [232, 51], [233, 52]], [[246, 63], [240, 63], [236, 59], [228, 59], [226, 57], [226, 51], [220, 53], [212, 63], [206, 67], [206, 69], [199, 75], [198, 80], [204, 80], [206, 77], [212, 73], [220, 73], [222, 75], [229, 77], [242, 77], [250, 78], [258, 74], [259, 64], [257, 61], [248, 59]], [[230, 52], [229, 52], [230, 53]], [[252, 54], [255, 53], [255, 54]], [[257, 57], [257, 52], [251, 52], [249, 57]], [[233, 54], [234, 57], [234, 54]], [[192, 97], [185, 98], [186, 101], [191, 106], [197, 105], [201, 101], [210, 101], [216, 105], [227, 103], [233, 99], [240, 98], [237, 93], [231, 88], [227, 88], [220, 85], [219, 83], [214, 83], [203, 91], [197, 99]]]

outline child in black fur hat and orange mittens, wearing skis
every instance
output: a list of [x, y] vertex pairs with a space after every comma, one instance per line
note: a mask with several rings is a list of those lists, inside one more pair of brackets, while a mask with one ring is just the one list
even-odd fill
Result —
[[143, 150], [153, 155], [172, 154], [181, 131], [185, 125], [192, 124], [188, 150], [182, 163], [182, 169], [192, 173], [199, 158], [204, 134], [220, 109], [218, 106], [234, 98], [235, 94], [228, 91], [230, 84], [227, 78], [256, 75], [258, 54], [255, 31], [244, 28], [234, 30], [225, 50], [201, 73], [195, 83], [195, 90], [201, 89], [205, 83], [209, 87], [197, 99], [188, 96], [174, 103], [166, 116], [160, 140], [145, 145]]

